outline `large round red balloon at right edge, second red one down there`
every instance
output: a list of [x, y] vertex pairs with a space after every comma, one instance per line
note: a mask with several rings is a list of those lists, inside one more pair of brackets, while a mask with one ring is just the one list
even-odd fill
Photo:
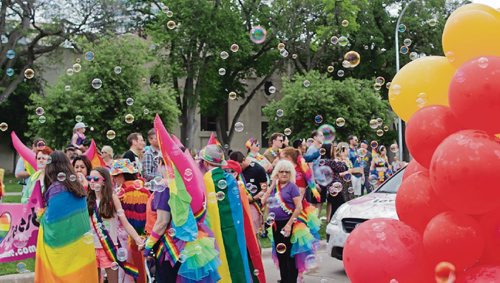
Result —
[[499, 173], [500, 140], [475, 130], [446, 138], [434, 152], [430, 168], [437, 196], [466, 214], [483, 214], [499, 206]]

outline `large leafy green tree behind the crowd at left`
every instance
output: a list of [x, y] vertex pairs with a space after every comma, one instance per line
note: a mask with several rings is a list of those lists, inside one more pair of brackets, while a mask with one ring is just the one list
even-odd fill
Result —
[[[75, 117], [80, 115], [89, 127], [87, 138], [93, 138], [98, 146], [111, 145], [120, 153], [127, 147], [128, 134], [142, 132], [145, 135], [144, 131], [153, 127], [155, 113], [167, 127], [175, 125], [179, 110], [173, 91], [165, 85], [148, 83], [150, 69], [147, 66], [153, 58], [144, 40], [131, 35], [104, 38], [97, 44], [85, 45], [84, 50], [94, 52], [95, 59], [82, 58], [81, 71], [59, 77], [57, 83], [46, 90], [45, 97], [31, 96], [28, 109], [33, 113], [29, 117], [33, 133], [46, 138], [51, 147], [60, 148], [70, 142]], [[120, 74], [115, 73], [116, 66], [121, 67]], [[92, 87], [96, 78], [102, 81], [100, 89]], [[66, 86], [71, 90], [67, 91]], [[127, 98], [135, 100], [132, 106], [126, 104]], [[34, 114], [36, 107], [44, 108], [45, 123], [40, 123]], [[135, 117], [132, 124], [125, 123], [127, 114]], [[114, 140], [106, 139], [108, 130], [116, 132]]]

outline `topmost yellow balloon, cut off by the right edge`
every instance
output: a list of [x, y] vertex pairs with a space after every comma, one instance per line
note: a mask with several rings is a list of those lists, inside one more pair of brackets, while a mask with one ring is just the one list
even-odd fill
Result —
[[500, 56], [500, 12], [482, 4], [464, 5], [446, 21], [442, 41], [456, 68], [480, 56]]

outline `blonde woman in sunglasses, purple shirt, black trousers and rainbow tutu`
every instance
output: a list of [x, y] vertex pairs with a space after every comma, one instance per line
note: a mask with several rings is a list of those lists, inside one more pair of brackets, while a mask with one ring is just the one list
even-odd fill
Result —
[[[314, 254], [317, 240], [302, 217], [302, 196], [295, 185], [295, 166], [288, 160], [279, 160], [271, 179], [273, 188], [266, 192], [263, 202], [268, 203], [269, 216], [274, 216], [272, 233], [273, 260], [279, 267], [282, 283], [302, 280], [306, 271], [305, 260]], [[291, 239], [295, 242], [292, 244]], [[299, 281], [300, 282], [300, 281]]]

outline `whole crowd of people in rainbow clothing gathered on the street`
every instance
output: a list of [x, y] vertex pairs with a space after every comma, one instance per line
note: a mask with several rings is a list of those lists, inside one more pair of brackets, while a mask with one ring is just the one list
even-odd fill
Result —
[[[130, 134], [121, 157], [103, 146], [95, 166], [85, 154], [85, 128], [75, 125], [64, 152], [35, 139], [37, 170], [22, 158], [16, 167], [22, 202], [36, 189], [43, 196], [39, 282], [146, 282], [150, 274], [156, 282], [264, 282], [258, 237], [271, 239], [281, 282], [300, 282], [315, 265], [325, 203], [329, 221], [342, 203], [404, 167], [375, 141], [325, 143], [317, 130], [292, 145], [274, 133], [262, 153], [255, 138], [246, 153], [209, 142], [193, 156], [206, 187], [203, 209], [194, 211], [169, 178], [155, 129], [148, 146], [142, 134]], [[56, 272], [63, 260], [65, 271]]]

